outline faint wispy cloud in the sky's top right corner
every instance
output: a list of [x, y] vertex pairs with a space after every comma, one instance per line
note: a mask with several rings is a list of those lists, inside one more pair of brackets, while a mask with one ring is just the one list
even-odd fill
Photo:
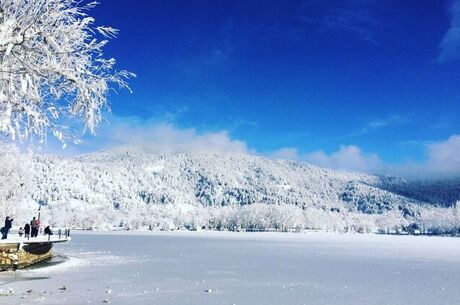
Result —
[[455, 0], [450, 7], [450, 26], [439, 45], [438, 61], [460, 59], [460, 1]]

